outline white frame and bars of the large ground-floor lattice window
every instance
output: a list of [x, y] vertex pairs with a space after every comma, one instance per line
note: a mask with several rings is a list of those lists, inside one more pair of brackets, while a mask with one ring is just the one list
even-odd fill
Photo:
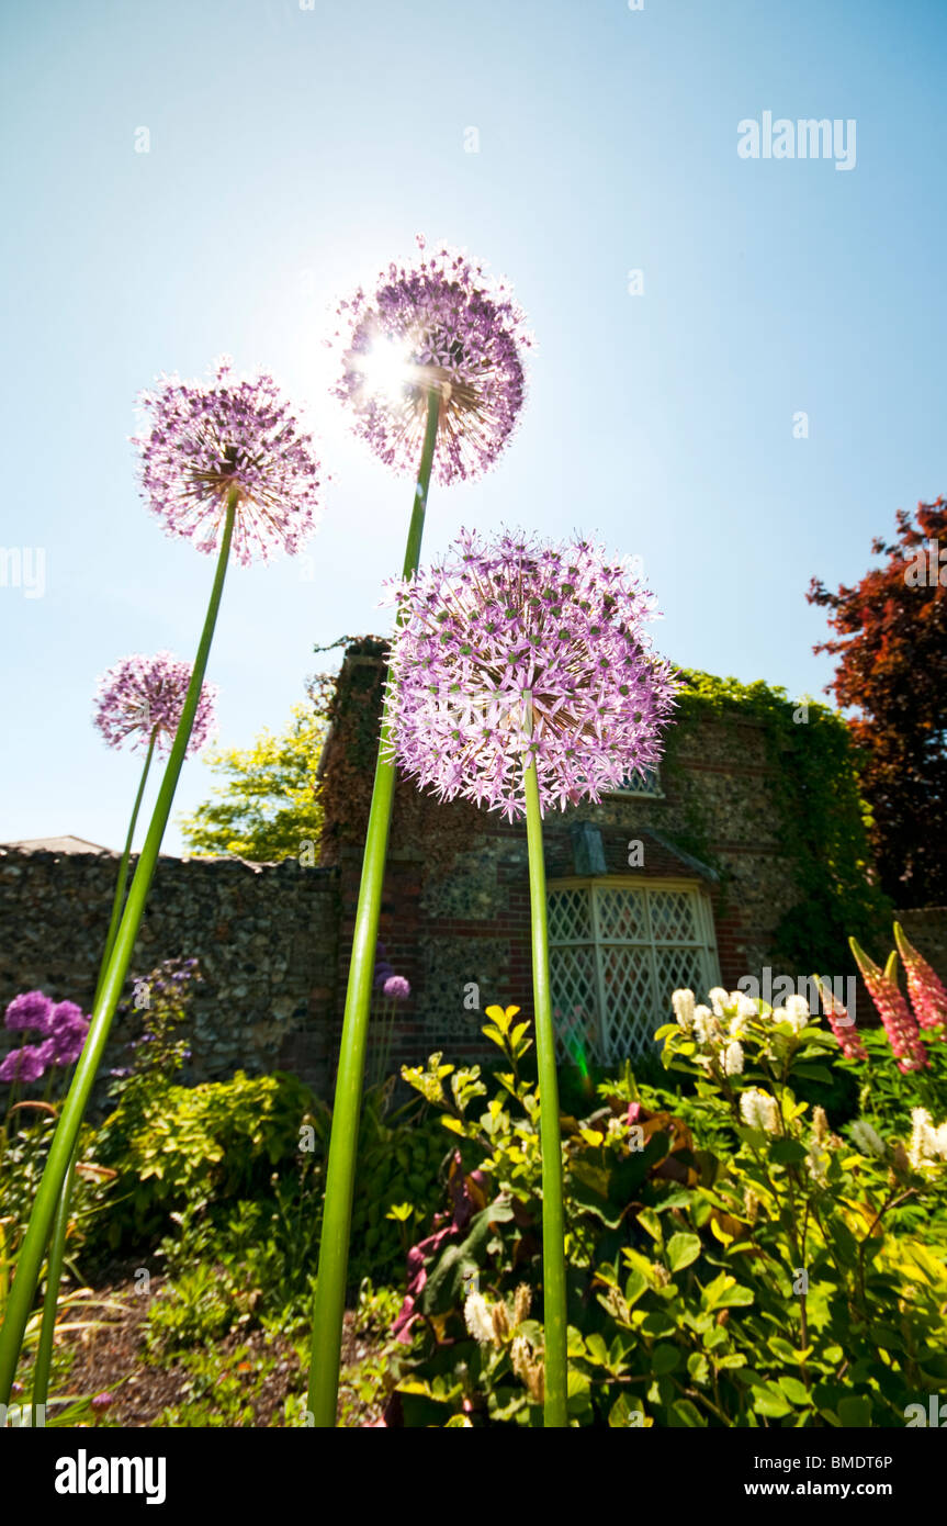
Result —
[[[636, 940], [602, 938], [599, 935], [599, 922], [598, 922], [599, 913], [598, 913], [598, 902], [596, 902], [596, 894], [595, 894], [596, 888], [599, 888], [599, 887], [601, 888], [610, 888], [610, 890], [645, 890], [645, 891], [668, 890], [668, 891], [685, 891], [685, 893], [691, 894], [694, 897], [694, 913], [695, 913], [694, 922], [695, 922], [697, 938], [694, 942], [688, 942], [686, 945], [682, 945], [680, 942], [669, 940], [669, 938], [657, 938], [657, 940], [654, 940], [654, 935], [653, 935], [651, 926], [650, 926], [650, 913], [648, 913], [648, 934], [650, 934], [650, 938], [648, 938], [647, 943], [644, 943], [639, 938], [636, 938]], [[651, 964], [651, 989], [654, 992], [657, 992], [660, 989], [660, 983], [659, 983], [659, 978], [657, 978], [657, 958], [656, 958], [657, 951], [659, 949], [665, 949], [665, 948], [697, 948], [698, 960], [700, 960], [700, 964], [701, 964], [701, 977], [703, 977], [703, 980], [701, 980], [703, 989], [695, 992], [697, 1000], [703, 1001], [708, 990], [711, 990], [714, 986], [720, 986], [720, 958], [718, 958], [718, 954], [717, 954], [717, 929], [714, 926], [714, 908], [711, 905], [711, 897], [708, 894], [708, 888], [706, 888], [706, 885], [705, 885], [703, 881], [700, 881], [700, 879], [659, 879], [659, 877], [644, 877], [644, 876], [630, 876], [630, 874], [595, 874], [593, 877], [572, 874], [572, 876], [567, 876], [567, 877], [563, 877], [563, 879], [549, 881], [549, 884], [546, 887], [547, 896], [551, 896], [551, 894], [554, 894], [555, 891], [560, 891], [560, 890], [586, 890], [589, 893], [589, 903], [590, 903], [589, 905], [589, 925], [590, 925], [590, 929], [592, 929], [592, 942], [590, 943], [589, 942], [579, 943], [575, 938], [555, 938], [554, 940], [551, 937], [549, 938], [549, 963], [551, 964], [554, 963], [554, 955], [555, 955], [555, 949], [557, 948], [590, 948], [592, 949], [593, 963], [595, 963], [595, 998], [596, 998], [596, 1012], [593, 1013], [593, 1018], [595, 1018], [596, 1032], [599, 1035], [599, 1044], [598, 1044], [599, 1053], [595, 1054], [596, 1064], [618, 1064], [618, 1059], [610, 1054], [612, 1044], [610, 1044], [610, 1035], [607, 1033], [608, 1001], [607, 1001], [607, 990], [605, 990], [604, 961], [602, 961], [602, 957], [601, 957], [601, 951], [602, 949], [608, 949], [608, 948], [639, 948], [640, 949], [640, 948], [645, 948], [648, 951], [648, 958], [650, 958], [650, 964]], [[552, 984], [554, 984], [554, 989], [555, 989], [555, 978], [552, 975], [552, 971], [551, 971], [551, 980], [552, 980]], [[637, 1051], [636, 1053], [639, 1053], [639, 1054], [640, 1053], [647, 1053], [648, 1047], [650, 1045], [653, 1047], [653, 1033], [654, 1033], [654, 1030], [659, 1029], [662, 1022], [668, 1022], [671, 1019], [671, 1016], [673, 1016], [673, 1013], [671, 1013], [669, 1004], [668, 1004], [668, 1010], [666, 1012], [653, 1013], [654, 1021], [653, 1021], [651, 1030], [637, 1044]], [[557, 1047], [560, 1050], [561, 1058], [566, 1058], [566, 1042], [564, 1042], [564, 1038], [561, 1038], [560, 1033], [558, 1033], [558, 1025], [557, 1025]], [[631, 1058], [634, 1058], [634, 1056], [631, 1056]]]

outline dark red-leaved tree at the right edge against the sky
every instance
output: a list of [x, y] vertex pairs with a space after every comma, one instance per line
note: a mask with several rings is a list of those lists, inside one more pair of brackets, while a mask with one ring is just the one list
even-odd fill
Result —
[[898, 906], [947, 905], [947, 505], [897, 514], [886, 557], [852, 588], [813, 578], [808, 601], [830, 610], [839, 659], [828, 687], [859, 748], [881, 888]]

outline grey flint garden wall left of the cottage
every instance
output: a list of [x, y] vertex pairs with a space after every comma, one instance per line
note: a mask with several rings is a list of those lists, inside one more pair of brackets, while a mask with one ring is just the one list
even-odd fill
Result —
[[[133, 861], [134, 862], [134, 861]], [[0, 848], [0, 1003], [38, 987], [88, 1010], [117, 858]], [[337, 876], [328, 868], [239, 859], [159, 861], [131, 972], [195, 957], [186, 1079], [285, 1067], [322, 1077], [320, 1038], [335, 1001]], [[131, 996], [131, 983], [128, 984]], [[116, 1019], [105, 1070], [140, 1018]], [[3, 1030], [0, 1030], [3, 1032]], [[12, 1035], [11, 1035], [12, 1038]], [[3, 1041], [3, 1053], [9, 1048]]]

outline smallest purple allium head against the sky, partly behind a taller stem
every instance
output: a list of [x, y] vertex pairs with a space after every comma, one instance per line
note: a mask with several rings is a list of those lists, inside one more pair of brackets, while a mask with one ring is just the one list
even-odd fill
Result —
[[[181, 662], [169, 652], [152, 658], [124, 658], [99, 679], [95, 725], [110, 748], [119, 748], [133, 737], [131, 749], [145, 749], [157, 731], [156, 751], [171, 752], [185, 696], [192, 673], [191, 662]], [[217, 684], [201, 684], [188, 755], [200, 752], [210, 728], [217, 723], [213, 702]]]

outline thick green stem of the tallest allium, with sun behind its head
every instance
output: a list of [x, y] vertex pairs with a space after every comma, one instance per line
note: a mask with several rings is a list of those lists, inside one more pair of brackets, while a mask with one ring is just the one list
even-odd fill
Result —
[[[421, 560], [421, 536], [424, 534], [427, 490], [430, 487], [430, 472], [438, 439], [438, 417], [439, 394], [432, 388], [427, 397], [427, 427], [404, 552], [403, 577], [406, 578], [418, 571]], [[352, 1224], [358, 1114], [361, 1109], [364, 1050], [372, 981], [375, 977], [375, 945], [378, 942], [378, 917], [381, 914], [384, 858], [387, 853], [387, 835], [395, 795], [395, 765], [386, 761], [383, 757], [387, 751], [387, 742], [389, 708], [386, 699], [381, 713], [381, 742], [375, 763], [372, 807], [364, 838], [361, 885], [358, 890], [352, 958], [345, 996], [339, 1074], [335, 1079], [335, 1106], [332, 1111], [332, 1137], [329, 1140], [329, 1164], [322, 1216], [322, 1242], [319, 1247], [319, 1276], [313, 1308], [313, 1352], [310, 1360], [310, 1396], [307, 1402], [313, 1415], [313, 1424], [322, 1430], [335, 1425], [339, 1405], [339, 1366]]]

